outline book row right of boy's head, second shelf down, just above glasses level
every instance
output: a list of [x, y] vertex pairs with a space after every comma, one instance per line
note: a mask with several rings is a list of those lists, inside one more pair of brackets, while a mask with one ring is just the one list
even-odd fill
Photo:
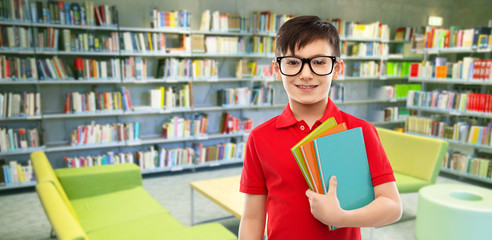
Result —
[[342, 42], [342, 56], [380, 57], [389, 53], [388, 44], [377, 42]]

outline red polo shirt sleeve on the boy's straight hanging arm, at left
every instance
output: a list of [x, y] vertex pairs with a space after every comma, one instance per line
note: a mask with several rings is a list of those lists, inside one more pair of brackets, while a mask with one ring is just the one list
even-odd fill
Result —
[[254, 130], [246, 142], [243, 171], [239, 191], [246, 194], [267, 194], [265, 176], [255, 145]]

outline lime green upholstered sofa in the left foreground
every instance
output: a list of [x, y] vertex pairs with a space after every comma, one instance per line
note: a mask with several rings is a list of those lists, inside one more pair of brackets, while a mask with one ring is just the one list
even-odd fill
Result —
[[43, 152], [31, 159], [59, 239], [237, 239], [218, 223], [184, 226], [144, 190], [135, 164], [53, 170]]

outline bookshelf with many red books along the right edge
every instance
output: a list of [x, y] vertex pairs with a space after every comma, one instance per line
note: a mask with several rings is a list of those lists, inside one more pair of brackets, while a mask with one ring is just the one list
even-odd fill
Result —
[[[415, 50], [424, 54], [424, 63], [419, 66], [418, 74], [411, 74], [409, 82], [421, 83], [422, 91], [415, 93], [414, 97], [410, 96], [413, 93], [408, 96], [413, 100], [407, 102], [407, 107], [418, 113], [419, 120], [427, 121], [425, 124], [429, 124], [430, 129], [421, 131], [423, 125], [417, 124], [418, 128], [409, 132], [450, 143], [450, 151], [441, 167], [442, 172], [490, 184], [492, 143], [489, 136], [492, 110], [487, 106], [492, 105], [492, 80], [481, 69], [490, 68], [486, 63], [491, 61], [488, 59], [491, 59], [492, 48], [487, 43], [474, 42], [473, 34], [469, 35], [471, 38], [468, 40], [461, 33], [460, 36], [453, 35], [453, 32], [473, 32], [476, 29], [481, 28], [441, 29], [451, 31], [449, 46], [439, 46], [435, 43], [439, 39], [434, 39], [425, 42], [423, 48]], [[426, 34], [431, 31], [433, 30], [428, 28]], [[460, 43], [456, 42], [457, 38], [460, 38]], [[485, 63], [483, 67], [482, 63]], [[423, 70], [425, 65], [430, 72]], [[445, 66], [445, 70], [450, 72], [439, 74], [437, 68], [441, 66]], [[482, 98], [477, 98], [478, 95]], [[418, 97], [428, 97], [429, 101], [418, 101]], [[410, 123], [406, 123], [407, 129], [408, 124]], [[480, 133], [480, 137], [477, 133]]]

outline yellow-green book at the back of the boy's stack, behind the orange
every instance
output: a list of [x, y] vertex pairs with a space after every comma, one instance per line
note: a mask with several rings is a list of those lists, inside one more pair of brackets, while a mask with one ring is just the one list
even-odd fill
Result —
[[304, 137], [301, 141], [299, 141], [296, 145], [294, 145], [290, 151], [292, 152], [292, 155], [294, 155], [294, 158], [299, 165], [299, 168], [301, 169], [302, 175], [306, 179], [306, 182], [309, 185], [309, 188], [311, 190], [315, 190], [314, 185], [310, 179], [310, 176], [307, 172], [306, 164], [304, 163], [302, 159], [302, 154], [301, 150], [299, 149], [299, 146], [302, 144], [306, 143], [307, 141], [310, 141], [314, 139], [316, 136], [320, 135], [321, 133], [325, 132], [326, 130], [334, 127], [337, 125], [337, 122], [335, 121], [334, 117], [328, 118], [326, 121], [324, 121], [322, 124], [320, 124], [316, 129], [311, 131], [306, 137]]

